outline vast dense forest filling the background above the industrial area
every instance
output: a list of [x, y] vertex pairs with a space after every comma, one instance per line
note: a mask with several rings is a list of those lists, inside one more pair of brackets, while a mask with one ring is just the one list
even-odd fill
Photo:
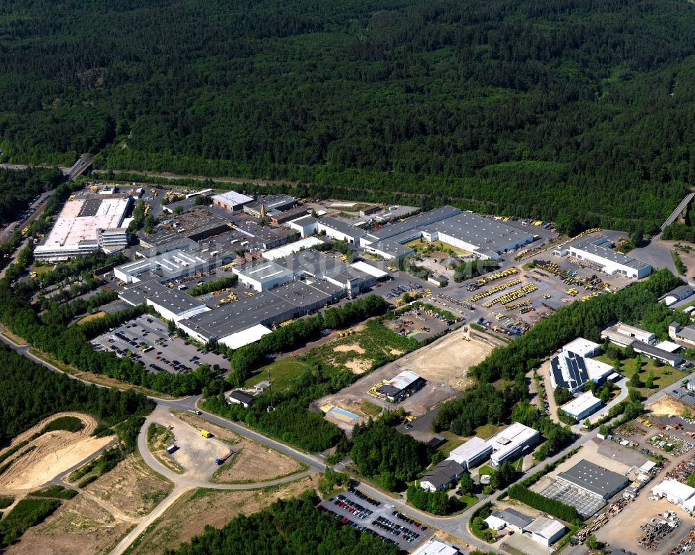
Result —
[[694, 29], [680, 0], [8, 0], [0, 149], [649, 232], [695, 181]]

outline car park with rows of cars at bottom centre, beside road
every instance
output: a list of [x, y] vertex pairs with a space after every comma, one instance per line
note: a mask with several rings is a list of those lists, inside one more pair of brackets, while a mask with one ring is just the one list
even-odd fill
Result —
[[318, 508], [344, 524], [398, 545], [404, 551], [412, 551], [432, 535], [432, 531], [420, 522], [380, 504], [359, 489], [350, 488], [326, 499]]

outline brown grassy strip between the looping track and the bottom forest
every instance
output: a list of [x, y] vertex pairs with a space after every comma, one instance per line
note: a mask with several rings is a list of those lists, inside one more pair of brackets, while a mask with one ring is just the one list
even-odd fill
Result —
[[265, 490], [189, 492], [156, 521], [131, 555], [161, 554], [165, 549], [177, 547], [180, 542], [202, 533], [206, 524], [222, 527], [236, 515], [255, 513], [281, 497], [293, 497], [304, 490], [316, 489], [317, 482], [316, 477], [306, 477]]

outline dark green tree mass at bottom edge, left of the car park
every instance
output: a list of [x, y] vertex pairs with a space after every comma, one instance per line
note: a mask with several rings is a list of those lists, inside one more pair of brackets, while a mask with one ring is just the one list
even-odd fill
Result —
[[316, 495], [280, 499], [260, 513], [234, 517], [167, 555], [396, 555], [398, 547], [319, 513]]

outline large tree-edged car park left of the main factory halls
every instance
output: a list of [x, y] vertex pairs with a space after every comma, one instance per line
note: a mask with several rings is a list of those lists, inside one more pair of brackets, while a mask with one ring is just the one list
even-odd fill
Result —
[[170, 337], [167, 324], [150, 315], [125, 322], [92, 340], [92, 345], [114, 351], [117, 356], [127, 356], [130, 351], [133, 353], [131, 358], [140, 361], [151, 372], [190, 372], [203, 363], [217, 364], [224, 369], [229, 367], [226, 355], [204, 352], [193, 343]]

